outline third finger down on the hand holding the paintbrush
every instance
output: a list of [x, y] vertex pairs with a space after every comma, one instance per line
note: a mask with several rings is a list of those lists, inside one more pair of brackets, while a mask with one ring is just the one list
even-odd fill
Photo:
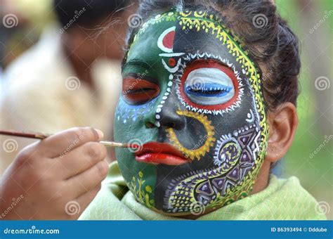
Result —
[[73, 189], [73, 196], [77, 198], [79, 195], [89, 192], [89, 190], [98, 186], [105, 179], [108, 169], [109, 165], [103, 160], [81, 174], [68, 179], [67, 185]]

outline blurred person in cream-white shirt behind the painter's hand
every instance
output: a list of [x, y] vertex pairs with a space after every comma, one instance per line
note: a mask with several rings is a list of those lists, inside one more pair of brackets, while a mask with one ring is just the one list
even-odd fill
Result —
[[[4, 72], [0, 129], [52, 134], [91, 126], [111, 137], [133, 1], [54, 0], [53, 8], [58, 26], [48, 27], [39, 43]], [[1, 175], [33, 141], [0, 137]]]

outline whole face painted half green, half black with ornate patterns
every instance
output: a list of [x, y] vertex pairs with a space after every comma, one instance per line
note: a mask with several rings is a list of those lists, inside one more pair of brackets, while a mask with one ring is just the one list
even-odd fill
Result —
[[[141, 27], [123, 68], [115, 140], [136, 199], [196, 214], [249, 194], [268, 129], [256, 66], [214, 15], [170, 11]], [[148, 143], [149, 142], [149, 143]]]

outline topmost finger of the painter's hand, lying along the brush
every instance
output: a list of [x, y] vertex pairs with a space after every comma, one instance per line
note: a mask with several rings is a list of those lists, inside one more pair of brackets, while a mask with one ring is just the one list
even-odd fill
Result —
[[84, 143], [100, 141], [102, 138], [103, 133], [98, 129], [91, 127], [72, 128], [45, 138], [38, 147], [46, 157], [58, 157], [84, 145]]

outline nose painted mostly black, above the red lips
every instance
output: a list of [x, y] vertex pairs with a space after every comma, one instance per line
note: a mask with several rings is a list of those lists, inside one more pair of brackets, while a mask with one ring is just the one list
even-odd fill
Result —
[[[160, 108], [160, 110], [158, 110]], [[168, 99], [162, 105], [158, 105], [157, 120], [161, 127], [172, 128], [176, 130], [184, 129], [186, 118], [183, 115], [178, 115], [177, 110], [180, 108], [180, 103], [175, 93], [171, 91]]]

